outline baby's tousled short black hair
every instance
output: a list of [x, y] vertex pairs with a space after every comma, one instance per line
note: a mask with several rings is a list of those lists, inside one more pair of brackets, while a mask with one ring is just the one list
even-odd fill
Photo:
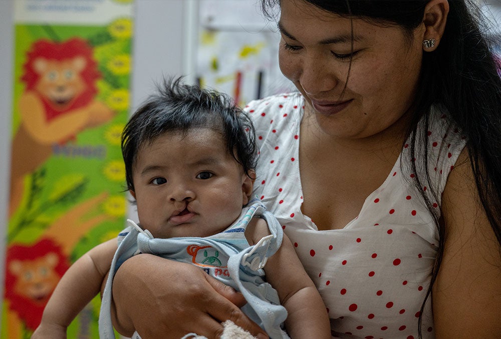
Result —
[[122, 133], [127, 188], [134, 190], [132, 168], [141, 146], [167, 132], [186, 135], [195, 128], [221, 134], [227, 151], [250, 177], [256, 167], [255, 131], [251, 118], [231, 98], [199, 86], [182, 84], [182, 77], [164, 79], [133, 114]]

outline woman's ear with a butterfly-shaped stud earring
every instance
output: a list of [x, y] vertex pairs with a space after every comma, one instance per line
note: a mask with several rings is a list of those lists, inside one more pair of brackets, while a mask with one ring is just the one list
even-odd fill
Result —
[[423, 25], [423, 50], [434, 51], [445, 31], [449, 3], [447, 0], [431, 0], [424, 9]]

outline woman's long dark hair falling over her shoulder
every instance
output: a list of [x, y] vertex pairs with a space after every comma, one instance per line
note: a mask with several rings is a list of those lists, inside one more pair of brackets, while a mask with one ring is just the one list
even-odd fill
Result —
[[[376, 25], [398, 25], [408, 37], [423, 21], [424, 9], [429, 0], [304, 0], [324, 11], [349, 18], [361, 18]], [[262, 0], [263, 13], [276, 19], [280, 0]], [[492, 23], [482, 15], [471, 0], [449, 1], [449, 14], [445, 31], [438, 48], [424, 53], [418, 92], [413, 103], [413, 115], [407, 138], [410, 159], [424, 159], [412, 164], [416, 173], [414, 184], [429, 178], [418, 176], [418, 169], [428, 168], [427, 156], [415, 157], [416, 152], [426, 152], [428, 138], [417, 133], [418, 122], [428, 121], [432, 106], [446, 111], [455, 125], [467, 138], [469, 161], [475, 177], [479, 198], [492, 230], [501, 245], [501, 38], [490, 35]], [[494, 26], [496, 27], [496, 26]], [[406, 139], [407, 139], [406, 138]], [[426, 155], [426, 154], [425, 154]], [[428, 171], [425, 171], [428, 173]], [[419, 189], [433, 216], [439, 233], [435, 264], [431, 271], [430, 286], [421, 305], [421, 316], [426, 300], [431, 295], [443, 257], [445, 228], [430, 197]], [[437, 197], [440, 192], [432, 192]], [[437, 199], [436, 201], [440, 201]]]

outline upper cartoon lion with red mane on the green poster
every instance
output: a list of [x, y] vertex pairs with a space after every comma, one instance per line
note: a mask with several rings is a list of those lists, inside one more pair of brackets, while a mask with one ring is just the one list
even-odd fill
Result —
[[92, 47], [83, 39], [35, 42], [27, 53], [19, 99], [21, 124], [12, 143], [9, 215], [23, 198], [24, 178], [52, 155], [54, 144], [111, 120], [114, 113], [95, 99], [101, 78]]

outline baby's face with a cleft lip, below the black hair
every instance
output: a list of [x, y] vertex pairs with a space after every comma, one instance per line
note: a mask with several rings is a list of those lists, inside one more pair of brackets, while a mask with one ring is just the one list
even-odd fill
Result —
[[165, 133], [143, 145], [133, 167], [141, 227], [153, 236], [203, 237], [227, 228], [252, 192], [220, 134], [195, 129]]

